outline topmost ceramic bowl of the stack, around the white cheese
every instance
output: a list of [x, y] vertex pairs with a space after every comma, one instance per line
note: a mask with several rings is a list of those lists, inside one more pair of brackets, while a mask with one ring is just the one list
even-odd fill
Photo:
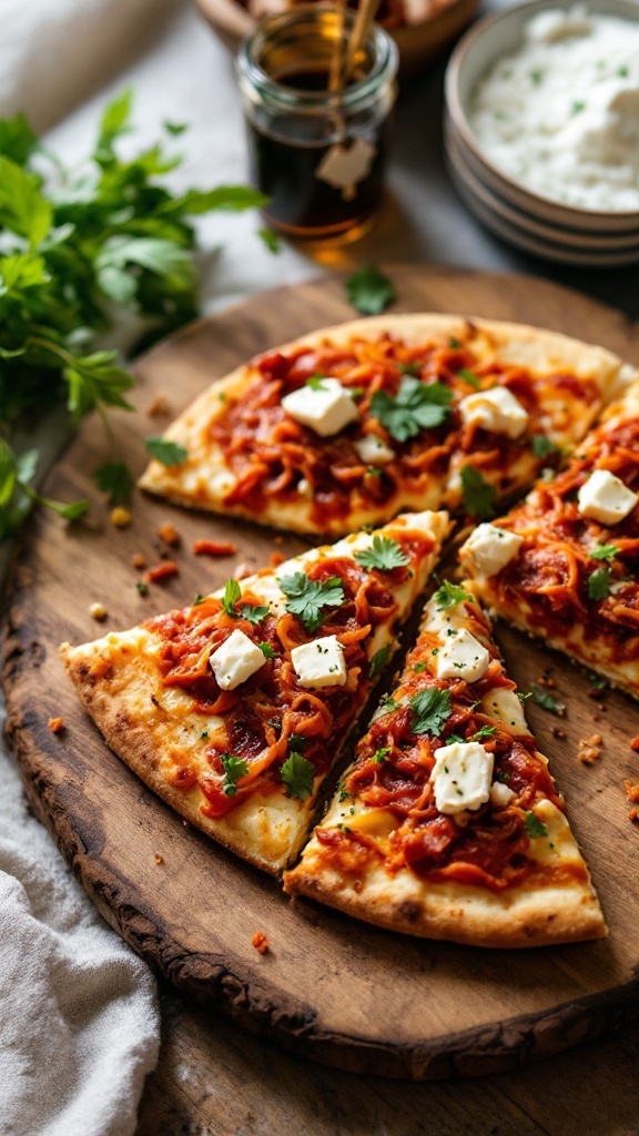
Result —
[[[617, 234], [632, 240], [639, 234], [638, 210], [583, 209], [528, 189], [491, 162], [470, 125], [470, 103], [476, 83], [493, 62], [521, 44], [524, 26], [531, 17], [549, 8], [566, 9], [573, 3], [574, 0], [531, 0], [486, 17], [463, 36], [446, 72], [448, 135], [457, 144], [465, 166], [489, 191], [521, 214], [573, 234]], [[590, 0], [587, 7], [590, 11], [639, 23], [637, 0]]]

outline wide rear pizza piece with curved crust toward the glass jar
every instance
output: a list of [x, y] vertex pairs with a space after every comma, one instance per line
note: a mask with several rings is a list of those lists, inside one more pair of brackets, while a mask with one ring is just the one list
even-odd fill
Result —
[[581, 441], [623, 377], [611, 352], [539, 328], [354, 320], [214, 383], [165, 434], [175, 463], [151, 461], [140, 485], [333, 537], [403, 510], [483, 518]]

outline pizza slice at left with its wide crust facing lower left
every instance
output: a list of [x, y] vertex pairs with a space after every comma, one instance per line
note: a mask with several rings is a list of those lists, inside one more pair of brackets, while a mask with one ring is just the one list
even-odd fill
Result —
[[61, 657], [111, 749], [191, 824], [271, 872], [396, 649], [445, 512], [312, 549]]

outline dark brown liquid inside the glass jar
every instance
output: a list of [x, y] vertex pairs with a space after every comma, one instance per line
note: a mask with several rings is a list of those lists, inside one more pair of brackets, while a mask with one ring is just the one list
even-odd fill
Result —
[[[277, 76], [277, 82], [301, 91], [326, 91], [327, 77], [325, 70], [305, 70]], [[329, 112], [326, 122], [330, 123]], [[277, 136], [251, 123], [247, 127], [250, 179], [269, 198], [263, 212], [274, 228], [302, 240], [335, 237], [365, 226], [377, 210], [383, 190], [388, 118], [376, 131], [362, 135], [375, 147], [376, 153], [365, 177], [346, 192], [315, 173], [335, 144], [334, 137], [327, 144], [300, 142], [294, 119], [287, 124], [284, 117], [277, 122]], [[345, 145], [348, 148], [352, 141], [347, 133]]]

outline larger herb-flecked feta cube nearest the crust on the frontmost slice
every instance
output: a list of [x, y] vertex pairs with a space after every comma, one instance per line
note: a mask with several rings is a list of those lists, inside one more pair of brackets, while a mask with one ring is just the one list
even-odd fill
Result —
[[455, 816], [484, 804], [490, 796], [492, 765], [492, 753], [480, 742], [454, 742], [440, 746], [431, 774], [439, 811]]

